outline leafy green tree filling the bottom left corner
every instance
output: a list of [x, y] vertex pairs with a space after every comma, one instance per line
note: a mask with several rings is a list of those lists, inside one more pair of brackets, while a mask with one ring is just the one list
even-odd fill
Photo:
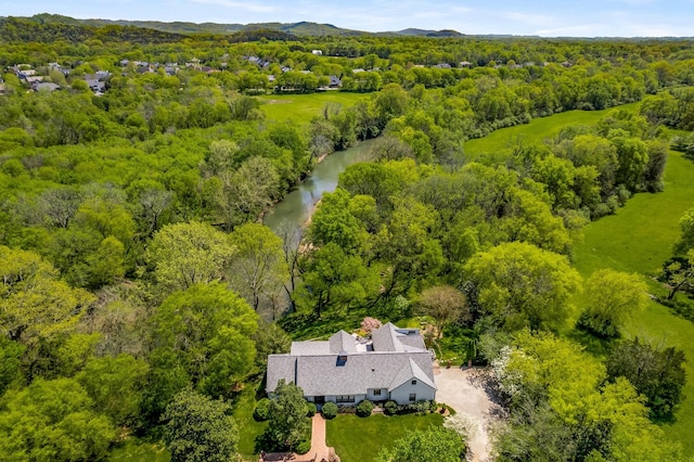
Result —
[[116, 440], [113, 423], [92, 410], [72, 378], [37, 378], [0, 399], [0, 451], [8, 461], [104, 460]]

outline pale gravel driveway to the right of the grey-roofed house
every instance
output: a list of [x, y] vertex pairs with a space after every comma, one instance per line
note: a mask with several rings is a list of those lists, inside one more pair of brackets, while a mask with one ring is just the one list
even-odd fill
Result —
[[489, 399], [483, 387], [486, 373], [478, 368], [434, 368], [438, 388], [436, 401], [445, 402], [457, 413], [467, 415], [477, 426], [467, 438], [467, 447], [475, 462], [490, 460], [489, 424], [494, 419], [492, 413], [498, 410], [498, 405]]

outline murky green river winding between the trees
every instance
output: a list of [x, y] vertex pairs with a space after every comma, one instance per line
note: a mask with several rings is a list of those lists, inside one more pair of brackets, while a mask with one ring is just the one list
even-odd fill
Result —
[[313, 213], [323, 193], [337, 188], [339, 174], [358, 162], [369, 161], [369, 149], [374, 140], [361, 141], [345, 151], [337, 151], [313, 167], [313, 171], [294, 188], [264, 219], [275, 233], [283, 221], [300, 228]]

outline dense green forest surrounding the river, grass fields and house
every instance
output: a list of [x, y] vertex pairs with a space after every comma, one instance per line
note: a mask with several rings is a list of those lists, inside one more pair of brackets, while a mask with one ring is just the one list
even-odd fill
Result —
[[[0, 460], [104, 460], [131, 437], [189, 460], [190, 415], [243, 425], [242, 390], [291, 337], [422, 313], [494, 371], [498, 460], [694, 455], [659, 426], [684, 354], [624, 332], [644, 282], [571, 267], [586, 224], [663, 191], [670, 147], [694, 155], [691, 41], [2, 18], [0, 43]], [[268, 119], [258, 98], [330, 91], [369, 95], [306, 124]], [[465, 150], [627, 103], [541, 143]], [[319, 159], [365, 139], [373, 162], [340, 176], [304, 235], [261, 224]], [[694, 290], [693, 217], [664, 298]], [[224, 458], [237, 442], [217, 441]]]

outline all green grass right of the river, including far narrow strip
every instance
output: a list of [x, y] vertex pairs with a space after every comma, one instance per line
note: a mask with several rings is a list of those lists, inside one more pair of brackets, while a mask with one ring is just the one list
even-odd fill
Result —
[[[635, 110], [635, 104], [619, 108]], [[465, 144], [470, 158], [502, 158], [518, 142], [541, 142], [556, 136], [567, 125], [595, 124], [613, 110], [596, 112], [571, 111], [552, 117], [534, 119], [528, 125], [498, 130], [490, 136]], [[616, 215], [601, 218], [587, 226], [583, 239], [575, 244], [574, 266], [583, 278], [600, 268], [638, 272], [648, 283], [650, 291], [664, 294], [654, 281], [663, 261], [671, 255], [679, 238], [678, 221], [694, 206], [694, 163], [680, 153], [670, 152], [665, 174], [665, 191], [657, 194], [637, 194]], [[582, 297], [574, 300], [580, 307]], [[579, 339], [576, 332], [568, 333]], [[686, 354], [687, 383], [684, 400], [676, 414], [676, 422], [663, 428], [672, 440], [680, 441], [685, 455], [694, 457], [694, 323], [673, 315], [668, 308], [651, 301], [644, 312], [633, 317], [626, 336], [639, 336], [658, 345], [676, 346]], [[584, 341], [584, 338], [582, 338]], [[589, 350], [600, 352], [600, 347]]]

